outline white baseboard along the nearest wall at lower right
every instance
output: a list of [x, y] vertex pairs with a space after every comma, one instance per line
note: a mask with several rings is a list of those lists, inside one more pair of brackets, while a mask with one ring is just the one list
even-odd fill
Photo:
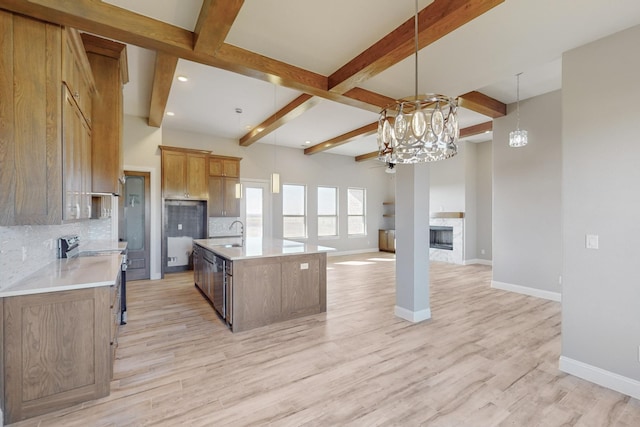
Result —
[[559, 368], [567, 374], [640, 399], [640, 381], [565, 356], [560, 356]]

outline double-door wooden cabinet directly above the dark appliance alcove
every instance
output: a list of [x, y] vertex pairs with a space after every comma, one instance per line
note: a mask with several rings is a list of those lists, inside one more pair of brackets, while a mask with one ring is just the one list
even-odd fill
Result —
[[160, 145], [162, 152], [162, 197], [207, 200], [209, 152]]

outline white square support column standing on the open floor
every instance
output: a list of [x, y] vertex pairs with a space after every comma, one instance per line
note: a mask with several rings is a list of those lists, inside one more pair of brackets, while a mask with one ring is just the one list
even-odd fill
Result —
[[429, 165], [396, 166], [396, 307], [410, 322], [431, 318]]

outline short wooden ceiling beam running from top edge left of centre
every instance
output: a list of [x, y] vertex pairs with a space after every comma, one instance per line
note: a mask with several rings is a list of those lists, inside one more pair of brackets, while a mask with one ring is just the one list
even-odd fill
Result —
[[215, 55], [243, 3], [244, 0], [204, 0], [193, 32], [193, 50]]

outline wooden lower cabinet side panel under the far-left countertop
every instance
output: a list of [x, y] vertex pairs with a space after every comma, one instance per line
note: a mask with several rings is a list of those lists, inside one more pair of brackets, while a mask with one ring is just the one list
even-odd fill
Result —
[[5, 423], [109, 395], [119, 298], [118, 281], [1, 300]]

